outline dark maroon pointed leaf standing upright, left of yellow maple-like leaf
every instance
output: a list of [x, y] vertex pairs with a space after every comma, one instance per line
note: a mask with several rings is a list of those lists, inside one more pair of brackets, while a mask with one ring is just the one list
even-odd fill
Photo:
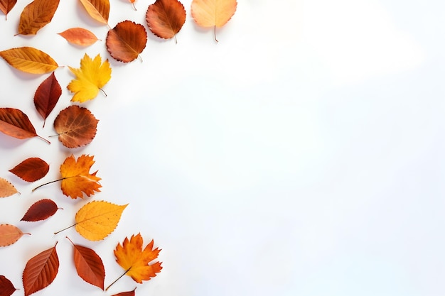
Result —
[[62, 88], [55, 79], [54, 72], [38, 86], [36, 94], [34, 94], [34, 106], [36, 106], [38, 114], [43, 117], [43, 127], [45, 127], [45, 119], [53, 111], [61, 94]]

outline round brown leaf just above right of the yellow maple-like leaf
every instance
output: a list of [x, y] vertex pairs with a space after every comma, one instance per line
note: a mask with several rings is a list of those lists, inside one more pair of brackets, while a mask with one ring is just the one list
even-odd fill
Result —
[[107, 34], [107, 50], [119, 62], [131, 62], [144, 50], [147, 41], [144, 26], [122, 21]]

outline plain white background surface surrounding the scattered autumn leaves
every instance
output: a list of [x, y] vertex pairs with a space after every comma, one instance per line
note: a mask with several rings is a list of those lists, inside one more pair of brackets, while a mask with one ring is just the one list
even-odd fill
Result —
[[[29, 1], [0, 18], [0, 50], [33, 46], [50, 54], [63, 95], [45, 128], [33, 94], [48, 75], [0, 60], [0, 106], [28, 114], [40, 136], [69, 106], [68, 67], [98, 53], [112, 79], [82, 104], [100, 119], [85, 148], [0, 135], [0, 177], [20, 195], [0, 199], [0, 223], [31, 236], [0, 248], [0, 274], [23, 295], [26, 261], [58, 241], [60, 270], [36, 295], [439, 296], [445, 294], [444, 1], [239, 0], [213, 31], [195, 26], [190, 0], [178, 44], [150, 32], [141, 60], [123, 64], [105, 50], [107, 27], [78, 1], [61, 1], [37, 35], [14, 36]], [[112, 0], [109, 25], [145, 23]], [[57, 35], [80, 26], [102, 41], [88, 48]], [[146, 27], [147, 28], [147, 27]], [[95, 155], [102, 192], [70, 200], [55, 180], [73, 153]], [[40, 157], [50, 172], [28, 184], [8, 172]], [[59, 210], [19, 221], [38, 199]], [[100, 242], [74, 229], [90, 200], [129, 206]], [[162, 248], [163, 270], [137, 285], [124, 277], [106, 293], [75, 274], [65, 236], [100, 254], [105, 285], [122, 273], [113, 249], [141, 233]]]

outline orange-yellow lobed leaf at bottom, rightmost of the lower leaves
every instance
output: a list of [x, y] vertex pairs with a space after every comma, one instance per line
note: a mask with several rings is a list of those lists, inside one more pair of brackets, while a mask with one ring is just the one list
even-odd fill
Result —
[[[130, 239], [125, 238], [122, 245], [117, 244], [114, 249], [114, 256], [116, 256], [116, 262], [125, 270], [124, 275], [132, 277], [132, 279], [141, 284], [143, 280], [150, 280], [156, 276], [162, 269], [161, 263], [156, 261], [155, 263], [149, 265], [151, 261], [158, 258], [159, 248], [153, 248], [154, 241], [146, 245], [144, 250], [142, 249], [144, 239], [142, 239], [141, 234], [132, 235]], [[119, 278], [117, 279], [119, 280]], [[107, 287], [111, 287], [111, 285]]]

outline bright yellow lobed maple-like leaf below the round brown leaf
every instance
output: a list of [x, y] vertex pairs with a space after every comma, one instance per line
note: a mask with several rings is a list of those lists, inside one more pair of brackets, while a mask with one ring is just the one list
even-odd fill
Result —
[[[69, 66], [68, 66], [69, 67]], [[111, 67], [108, 60], [102, 63], [100, 55], [96, 55], [94, 60], [85, 53], [80, 60], [80, 68], [69, 67], [76, 79], [71, 80], [68, 89], [74, 92], [71, 102], [86, 102], [97, 97], [99, 90], [102, 90], [111, 79]], [[102, 90], [103, 92], [103, 90]]]

